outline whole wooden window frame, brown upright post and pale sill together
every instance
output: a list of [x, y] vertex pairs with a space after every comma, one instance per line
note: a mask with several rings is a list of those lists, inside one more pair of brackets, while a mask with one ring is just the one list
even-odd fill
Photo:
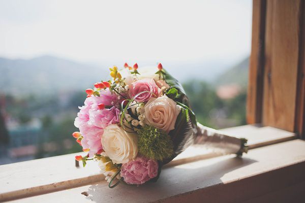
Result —
[[[294, 140], [295, 134], [305, 138], [304, 18], [304, 1], [253, 1], [247, 121], [260, 124], [223, 129], [249, 139], [245, 158], [190, 147], [166, 166], [163, 174], [176, 174], [159, 180], [161, 189], [148, 185], [111, 190], [96, 163], [75, 167], [75, 154], [7, 164], [0, 166], [0, 202], [91, 202], [114, 197], [149, 202], [304, 202], [305, 141]], [[288, 44], [292, 48], [287, 52]], [[285, 78], [292, 82], [281, 84]], [[285, 99], [279, 102], [281, 97]], [[206, 177], [192, 177], [184, 170], [200, 164], [202, 173], [196, 174]], [[185, 185], [180, 186], [179, 180]]]

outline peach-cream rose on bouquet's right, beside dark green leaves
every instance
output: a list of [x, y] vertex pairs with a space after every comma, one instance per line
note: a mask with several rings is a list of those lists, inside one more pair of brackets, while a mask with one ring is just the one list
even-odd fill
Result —
[[175, 128], [175, 122], [180, 113], [179, 106], [166, 95], [151, 97], [144, 106], [145, 123], [154, 125], [166, 133]]

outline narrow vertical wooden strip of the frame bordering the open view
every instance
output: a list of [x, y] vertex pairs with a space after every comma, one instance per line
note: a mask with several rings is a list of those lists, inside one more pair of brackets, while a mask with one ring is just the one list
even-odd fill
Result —
[[266, 1], [254, 0], [252, 14], [252, 45], [247, 92], [247, 122], [249, 124], [261, 122], [265, 15]]

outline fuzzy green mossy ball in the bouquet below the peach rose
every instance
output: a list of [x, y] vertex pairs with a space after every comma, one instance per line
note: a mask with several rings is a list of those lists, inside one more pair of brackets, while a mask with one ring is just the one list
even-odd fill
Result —
[[163, 160], [173, 154], [173, 143], [166, 132], [153, 125], [145, 125], [138, 133], [139, 152], [147, 158]]

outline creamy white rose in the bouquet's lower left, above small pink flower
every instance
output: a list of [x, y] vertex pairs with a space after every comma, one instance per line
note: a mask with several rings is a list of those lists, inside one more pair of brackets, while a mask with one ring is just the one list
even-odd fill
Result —
[[126, 132], [116, 124], [104, 129], [101, 142], [113, 163], [127, 163], [138, 154], [136, 134]]

